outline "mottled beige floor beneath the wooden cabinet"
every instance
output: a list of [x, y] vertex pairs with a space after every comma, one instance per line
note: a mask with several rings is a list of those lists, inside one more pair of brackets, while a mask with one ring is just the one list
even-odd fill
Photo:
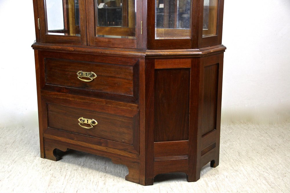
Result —
[[200, 180], [160, 174], [153, 186], [125, 181], [128, 169], [74, 151], [41, 159], [38, 128], [0, 128], [0, 192], [290, 192], [290, 123], [222, 125], [220, 165]]

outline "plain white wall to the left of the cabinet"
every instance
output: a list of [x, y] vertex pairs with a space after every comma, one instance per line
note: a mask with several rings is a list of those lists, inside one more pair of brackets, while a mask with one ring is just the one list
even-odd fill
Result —
[[0, 0], [0, 128], [37, 126], [32, 0]]

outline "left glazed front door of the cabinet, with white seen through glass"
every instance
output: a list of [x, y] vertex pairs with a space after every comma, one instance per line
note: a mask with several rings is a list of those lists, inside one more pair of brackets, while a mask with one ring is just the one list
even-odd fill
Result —
[[39, 41], [86, 45], [85, 0], [35, 0]]

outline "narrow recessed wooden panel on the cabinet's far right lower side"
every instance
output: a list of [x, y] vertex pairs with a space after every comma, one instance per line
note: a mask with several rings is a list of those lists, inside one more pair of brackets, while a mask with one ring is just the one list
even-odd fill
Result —
[[218, 64], [204, 67], [202, 135], [216, 129]]

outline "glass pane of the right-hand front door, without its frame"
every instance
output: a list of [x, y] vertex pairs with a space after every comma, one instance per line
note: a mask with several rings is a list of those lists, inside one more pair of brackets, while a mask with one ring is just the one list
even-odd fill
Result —
[[135, 0], [95, 0], [97, 37], [135, 38]]

